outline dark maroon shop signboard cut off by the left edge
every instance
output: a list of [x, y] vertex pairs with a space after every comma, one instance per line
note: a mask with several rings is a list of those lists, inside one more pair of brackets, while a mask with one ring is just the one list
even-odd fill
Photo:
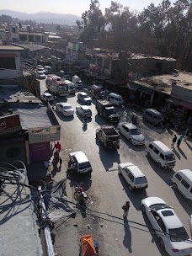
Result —
[[0, 117], [0, 136], [21, 131], [19, 114]]

